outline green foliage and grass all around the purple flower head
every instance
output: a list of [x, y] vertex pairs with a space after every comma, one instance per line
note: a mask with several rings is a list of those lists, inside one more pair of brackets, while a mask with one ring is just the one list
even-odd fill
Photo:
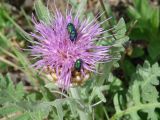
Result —
[[[90, 1], [82, 0], [78, 3], [76, 0], [69, 0], [69, 2], [75, 10], [73, 12], [80, 10], [82, 15], [91, 19], [95, 16], [90, 10], [86, 12], [84, 9], [88, 7], [87, 4]], [[91, 74], [90, 79], [83, 86], [72, 87], [62, 92], [47, 79], [45, 74], [39, 75], [31, 67], [27, 51], [14, 46], [13, 37], [26, 44], [34, 44], [35, 41], [17, 24], [17, 18], [14, 15], [11, 17], [11, 9], [6, 6], [0, 3], [0, 119], [160, 119], [160, 67], [157, 62], [160, 56], [158, 52], [160, 50], [159, 8], [151, 6], [147, 0], [134, 0], [133, 5], [128, 5], [126, 10], [129, 17], [127, 24], [123, 18], [117, 22], [111, 19], [110, 23], [113, 21], [116, 23], [113, 28], [108, 21], [104, 22], [102, 27], [112, 30], [102, 37], [110, 37], [101, 39], [96, 44], [111, 46], [112, 60], [109, 63], [97, 65], [97, 69], [102, 74]], [[105, 6], [109, 7], [108, 4]], [[46, 24], [53, 19], [47, 7], [42, 0], [35, 1], [36, 17]], [[103, 20], [102, 15], [96, 22]], [[130, 28], [135, 21], [137, 24]], [[126, 33], [128, 32], [126, 28], [131, 29], [130, 33]], [[8, 30], [10, 31], [6, 32]], [[131, 54], [126, 56], [128, 35], [133, 43], [138, 40], [146, 42], [145, 50], [136, 46]], [[132, 62], [134, 58], [143, 59], [145, 62], [142, 63], [143, 65], [136, 66]], [[116, 68], [122, 69], [124, 78], [121, 78], [123, 75], [119, 77], [111, 72]], [[29, 85], [26, 85], [26, 81], [23, 80], [14, 81], [14, 74], [17, 74], [17, 71], [25, 76]]]

